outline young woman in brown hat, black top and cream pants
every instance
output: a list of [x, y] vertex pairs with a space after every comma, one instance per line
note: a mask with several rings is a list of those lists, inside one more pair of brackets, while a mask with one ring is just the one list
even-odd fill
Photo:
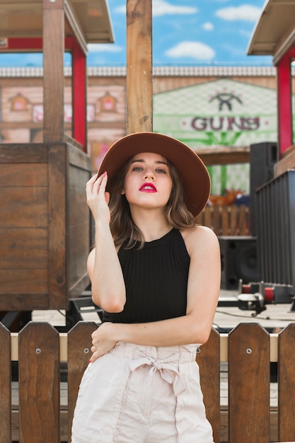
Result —
[[218, 239], [195, 223], [209, 190], [197, 154], [153, 132], [113, 144], [88, 181], [96, 226], [88, 272], [105, 313], [72, 443], [213, 442], [195, 362], [220, 287]]

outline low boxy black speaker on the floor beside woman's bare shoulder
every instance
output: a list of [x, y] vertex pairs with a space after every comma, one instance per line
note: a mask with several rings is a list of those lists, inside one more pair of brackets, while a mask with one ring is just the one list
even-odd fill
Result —
[[259, 282], [257, 242], [249, 236], [219, 236], [221, 289], [238, 289], [238, 281]]

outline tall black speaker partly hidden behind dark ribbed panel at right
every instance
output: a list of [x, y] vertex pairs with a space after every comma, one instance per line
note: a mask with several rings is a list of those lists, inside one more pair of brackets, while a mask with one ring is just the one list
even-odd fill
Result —
[[278, 160], [277, 144], [274, 142], [250, 145], [250, 234], [257, 235], [256, 190], [274, 177], [274, 164]]

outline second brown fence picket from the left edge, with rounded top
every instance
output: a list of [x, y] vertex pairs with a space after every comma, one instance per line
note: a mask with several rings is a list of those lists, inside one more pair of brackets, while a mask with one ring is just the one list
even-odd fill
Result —
[[19, 333], [20, 443], [59, 443], [59, 334], [30, 322]]

